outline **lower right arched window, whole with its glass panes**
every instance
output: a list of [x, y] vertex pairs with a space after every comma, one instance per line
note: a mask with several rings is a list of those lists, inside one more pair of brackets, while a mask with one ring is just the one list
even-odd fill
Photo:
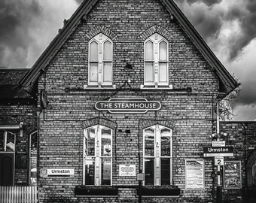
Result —
[[155, 125], [143, 130], [145, 185], [172, 183], [172, 129]]

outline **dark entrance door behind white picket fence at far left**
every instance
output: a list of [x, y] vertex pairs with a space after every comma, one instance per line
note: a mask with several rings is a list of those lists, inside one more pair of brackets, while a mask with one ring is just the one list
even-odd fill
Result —
[[14, 185], [14, 153], [0, 153], [0, 185]]

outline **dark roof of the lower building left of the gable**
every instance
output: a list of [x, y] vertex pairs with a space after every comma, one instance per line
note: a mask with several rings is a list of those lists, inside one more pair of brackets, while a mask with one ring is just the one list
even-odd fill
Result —
[[0, 68], [0, 103], [35, 103], [28, 92], [21, 89], [19, 81], [29, 72], [28, 68]]

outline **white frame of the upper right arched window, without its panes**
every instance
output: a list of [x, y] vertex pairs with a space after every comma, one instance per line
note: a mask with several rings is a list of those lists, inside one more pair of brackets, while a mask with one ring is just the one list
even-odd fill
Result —
[[[148, 41], [151, 41], [153, 42], [153, 56], [154, 56], [154, 59], [153, 61], [147, 61], [146, 60], [146, 43]], [[167, 53], [166, 53], [166, 61], [160, 61], [160, 42], [162, 41], [165, 41], [166, 44], [167, 44]], [[153, 68], [154, 68], [154, 81], [153, 82], [147, 82], [146, 81], [146, 71], [145, 71], [145, 68], [146, 68], [146, 62], [153, 62]], [[166, 63], [166, 66], [167, 66], [167, 73], [166, 73], [166, 76], [167, 76], [167, 80], [166, 82], [160, 82], [159, 81], [159, 71], [160, 71], [160, 63], [161, 62], [164, 62]], [[166, 38], [163, 38], [162, 35], [159, 35], [157, 33], [155, 33], [154, 35], [151, 35], [151, 37], [147, 38], [144, 42], [144, 86], [155, 86], [156, 88], [158, 86], [169, 86], [169, 43], [168, 41], [166, 40]]]

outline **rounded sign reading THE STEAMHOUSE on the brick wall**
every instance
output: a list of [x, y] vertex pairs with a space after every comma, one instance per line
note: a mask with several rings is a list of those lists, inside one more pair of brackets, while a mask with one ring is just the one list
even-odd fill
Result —
[[146, 98], [110, 98], [108, 101], [96, 102], [95, 108], [112, 114], [145, 114], [160, 110], [161, 104]]

